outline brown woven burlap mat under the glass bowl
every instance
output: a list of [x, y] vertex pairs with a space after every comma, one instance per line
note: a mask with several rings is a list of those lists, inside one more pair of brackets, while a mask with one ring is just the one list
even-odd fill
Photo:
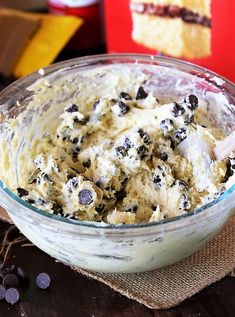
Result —
[[[1, 209], [0, 218], [9, 221]], [[169, 308], [225, 275], [234, 275], [235, 215], [201, 251], [163, 269], [137, 274], [104, 274], [72, 268], [150, 308]]]

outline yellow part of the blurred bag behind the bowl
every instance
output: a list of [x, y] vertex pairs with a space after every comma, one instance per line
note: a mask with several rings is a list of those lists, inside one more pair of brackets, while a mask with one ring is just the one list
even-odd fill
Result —
[[[13, 10], [12, 10], [13, 11]], [[20, 12], [15, 11], [14, 12]], [[21, 13], [41, 20], [35, 35], [25, 46], [15, 68], [14, 76], [26, 76], [33, 71], [48, 66], [82, 25], [83, 20], [74, 16], [54, 16], [49, 14]]]

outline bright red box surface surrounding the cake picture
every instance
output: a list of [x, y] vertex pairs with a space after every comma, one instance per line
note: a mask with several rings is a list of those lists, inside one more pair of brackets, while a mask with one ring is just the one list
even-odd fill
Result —
[[[157, 52], [131, 39], [129, 0], [105, 0], [106, 42], [109, 53]], [[151, 0], [150, 0], [151, 2]], [[212, 0], [212, 55], [190, 60], [235, 82], [235, 1]], [[200, 45], [200, 43], [198, 43]]]

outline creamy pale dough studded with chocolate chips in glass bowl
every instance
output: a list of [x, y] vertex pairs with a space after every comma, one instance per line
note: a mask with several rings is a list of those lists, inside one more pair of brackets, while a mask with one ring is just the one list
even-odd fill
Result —
[[5, 185], [47, 212], [114, 224], [175, 217], [218, 197], [235, 157], [214, 159], [224, 134], [201, 124], [198, 97], [165, 102], [145, 86], [148, 72], [124, 70], [101, 67], [30, 87], [27, 110], [4, 128]]

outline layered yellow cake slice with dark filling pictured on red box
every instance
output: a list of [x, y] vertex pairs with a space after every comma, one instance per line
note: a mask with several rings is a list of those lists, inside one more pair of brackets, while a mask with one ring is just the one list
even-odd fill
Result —
[[167, 55], [211, 54], [211, 0], [131, 0], [132, 38]]

